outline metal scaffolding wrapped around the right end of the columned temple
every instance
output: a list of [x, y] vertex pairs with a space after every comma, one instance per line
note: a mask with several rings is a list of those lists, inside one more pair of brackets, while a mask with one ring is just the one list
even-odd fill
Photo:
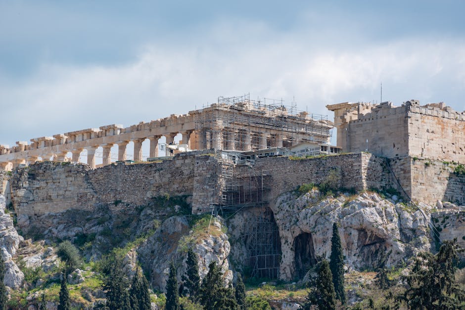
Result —
[[282, 99], [221, 96], [196, 113], [196, 148], [251, 151], [299, 142], [328, 144], [332, 127], [326, 115], [299, 111]]

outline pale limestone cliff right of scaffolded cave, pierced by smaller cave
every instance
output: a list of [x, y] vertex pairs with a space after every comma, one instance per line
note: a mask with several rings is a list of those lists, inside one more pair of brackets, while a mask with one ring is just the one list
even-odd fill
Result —
[[344, 262], [349, 268], [373, 267], [382, 252], [389, 253], [389, 266], [415, 252], [429, 250], [429, 216], [402, 204], [394, 205], [376, 193], [366, 192], [352, 199], [347, 196], [319, 200], [318, 191], [313, 191], [297, 198], [291, 193], [279, 197], [273, 212], [281, 239], [282, 279], [295, 276], [302, 255], [295, 242], [299, 236], [313, 245], [305, 254], [314, 259], [329, 258], [333, 222], [339, 223]]

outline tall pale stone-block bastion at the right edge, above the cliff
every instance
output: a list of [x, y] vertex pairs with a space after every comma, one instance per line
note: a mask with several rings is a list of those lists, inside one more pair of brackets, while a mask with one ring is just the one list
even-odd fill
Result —
[[338, 103], [334, 111], [337, 145], [344, 152], [365, 151], [389, 159], [403, 189], [415, 201], [465, 204], [465, 112], [441, 103], [410, 100]]

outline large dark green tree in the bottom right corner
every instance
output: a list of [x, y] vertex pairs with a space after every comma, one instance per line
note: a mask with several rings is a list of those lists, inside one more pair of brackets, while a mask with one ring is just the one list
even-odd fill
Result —
[[457, 239], [445, 241], [439, 253], [419, 253], [405, 277], [404, 300], [410, 309], [465, 308], [465, 290], [454, 282], [459, 250]]

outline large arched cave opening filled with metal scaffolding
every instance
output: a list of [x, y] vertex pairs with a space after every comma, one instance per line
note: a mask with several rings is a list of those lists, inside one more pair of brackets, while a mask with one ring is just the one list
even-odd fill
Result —
[[281, 241], [273, 212], [264, 208], [247, 219], [246, 245], [250, 277], [279, 277]]

